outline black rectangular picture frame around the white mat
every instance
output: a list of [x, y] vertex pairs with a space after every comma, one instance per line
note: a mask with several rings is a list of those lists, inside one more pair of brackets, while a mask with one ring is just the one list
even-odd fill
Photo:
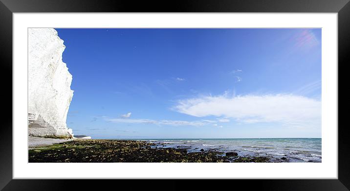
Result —
[[[349, 62], [350, 57], [350, 2], [349, 0], [0, 0], [0, 58], [1, 86], [5, 112], [0, 127], [0, 190], [69, 190], [77, 184], [80, 189], [91, 189], [90, 183], [80, 180], [18, 180], [12, 174], [12, 22], [13, 13], [40, 12], [274, 12], [274, 13], [338, 13], [338, 71]], [[344, 71], [344, 70], [343, 70]], [[11, 81], [11, 83], [10, 83]], [[338, 81], [339, 73], [338, 73]], [[339, 84], [339, 83], [338, 83]], [[339, 86], [339, 85], [338, 85]], [[339, 89], [339, 88], [338, 88]], [[338, 91], [339, 95], [339, 91]], [[10, 101], [12, 100], [12, 101]], [[338, 98], [339, 100], [339, 98]], [[344, 104], [343, 104], [344, 105]], [[345, 104], [347, 105], [347, 104]], [[343, 106], [345, 108], [345, 106]], [[6, 109], [7, 108], [7, 109]], [[11, 109], [10, 109], [11, 108]], [[339, 111], [339, 106], [338, 106]], [[340, 113], [338, 112], [338, 116]], [[275, 180], [229, 180], [222, 185], [244, 185], [244, 189], [281, 191], [349, 191], [350, 190], [350, 143], [349, 128], [339, 125], [338, 117], [338, 179], [275, 179]], [[67, 171], [69, 174], [69, 171]], [[134, 184], [123, 182], [128, 190], [145, 188], [159, 183]], [[218, 184], [188, 182], [186, 188], [204, 186], [219, 188]], [[96, 184], [96, 183], [92, 183]], [[107, 181], [115, 185], [115, 181]], [[183, 188], [177, 180], [166, 180], [167, 190]], [[164, 187], [163, 187], [164, 188]]]

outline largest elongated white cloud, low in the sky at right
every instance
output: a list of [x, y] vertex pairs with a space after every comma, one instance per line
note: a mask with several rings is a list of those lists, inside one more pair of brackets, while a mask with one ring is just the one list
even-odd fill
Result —
[[187, 115], [232, 118], [243, 123], [317, 126], [321, 122], [321, 101], [295, 95], [202, 96], [179, 100], [174, 109]]

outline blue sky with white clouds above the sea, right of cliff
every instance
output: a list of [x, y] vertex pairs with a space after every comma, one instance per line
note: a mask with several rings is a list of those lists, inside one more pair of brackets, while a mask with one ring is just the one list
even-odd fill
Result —
[[321, 29], [56, 29], [93, 138], [321, 137]]

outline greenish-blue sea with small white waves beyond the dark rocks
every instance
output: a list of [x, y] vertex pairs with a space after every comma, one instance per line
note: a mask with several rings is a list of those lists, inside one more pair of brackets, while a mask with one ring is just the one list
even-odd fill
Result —
[[[135, 139], [133, 139], [135, 140]], [[224, 138], [224, 139], [137, 139], [158, 148], [186, 148], [188, 152], [236, 152], [239, 156], [268, 156], [271, 162], [321, 162], [321, 138]]]

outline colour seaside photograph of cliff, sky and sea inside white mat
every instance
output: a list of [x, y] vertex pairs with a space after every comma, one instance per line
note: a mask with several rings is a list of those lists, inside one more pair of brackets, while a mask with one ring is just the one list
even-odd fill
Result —
[[29, 163], [322, 163], [322, 28], [27, 35]]

